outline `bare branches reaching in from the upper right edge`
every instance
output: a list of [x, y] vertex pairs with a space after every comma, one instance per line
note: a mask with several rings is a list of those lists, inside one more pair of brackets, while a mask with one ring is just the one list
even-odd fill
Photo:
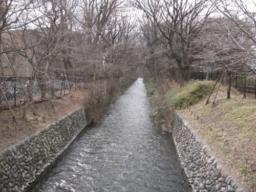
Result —
[[[251, 1], [249, 4], [243, 0], [231, 0], [231, 1], [219, 1], [214, 4], [220, 13], [227, 19], [229, 19], [233, 29], [236, 29], [236, 33], [232, 34], [234, 31], [229, 30], [231, 36], [230, 41], [232, 45], [229, 44], [229, 48], [236, 49], [240, 51], [240, 65], [247, 68], [251, 73], [256, 76], [256, 4]], [[233, 57], [234, 54], [230, 54]]]

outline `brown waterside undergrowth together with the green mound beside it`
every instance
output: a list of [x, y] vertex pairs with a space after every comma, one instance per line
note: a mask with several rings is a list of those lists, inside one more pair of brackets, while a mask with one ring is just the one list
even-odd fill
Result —
[[157, 81], [152, 79], [143, 80], [146, 87], [146, 94], [151, 104], [152, 121], [163, 130], [170, 127], [170, 108], [184, 109], [189, 105], [197, 103], [210, 93], [214, 87], [212, 81], [189, 81], [182, 88], [171, 89], [163, 92]]

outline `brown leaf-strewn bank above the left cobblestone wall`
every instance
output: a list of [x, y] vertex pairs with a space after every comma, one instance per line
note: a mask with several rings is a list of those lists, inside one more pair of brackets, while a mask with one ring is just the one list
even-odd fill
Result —
[[[133, 80], [131, 80], [131, 82], [132, 81]], [[129, 84], [130, 81], [127, 80], [125, 83], [115, 83], [115, 89], [119, 89], [126, 83]], [[13, 121], [9, 110], [0, 111], [0, 151], [41, 130], [50, 122], [53, 122], [60, 117], [85, 106], [91, 100], [104, 95], [102, 91], [102, 88], [104, 87], [103, 82], [94, 83], [93, 86], [93, 89], [80, 89], [72, 91], [71, 94], [66, 92], [65, 96], [61, 96], [60, 98], [51, 101], [33, 103], [32, 106], [36, 112], [36, 116], [33, 115], [33, 112], [29, 107], [27, 119], [18, 119], [18, 123]], [[113, 90], [110, 89], [110, 87], [106, 87], [106, 91], [109, 93]], [[52, 108], [52, 105], [54, 108]], [[19, 113], [22, 109], [15, 108], [13, 111], [16, 117], [19, 117]], [[91, 120], [88, 121], [96, 123], [102, 115], [102, 111], [97, 111], [97, 113], [94, 113], [91, 117]]]

